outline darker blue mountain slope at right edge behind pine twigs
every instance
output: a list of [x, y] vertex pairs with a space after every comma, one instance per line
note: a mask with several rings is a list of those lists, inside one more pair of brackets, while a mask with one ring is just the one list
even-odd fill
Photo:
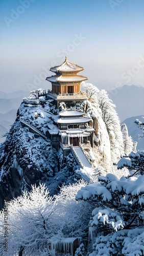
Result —
[[144, 150], [144, 139], [138, 138], [138, 135], [142, 134], [142, 131], [140, 127], [138, 127], [136, 123], [134, 123], [136, 119], [143, 121], [142, 116], [133, 116], [125, 119], [123, 123], [125, 123], [128, 127], [129, 136], [132, 137], [133, 141], [137, 141], [137, 150]]

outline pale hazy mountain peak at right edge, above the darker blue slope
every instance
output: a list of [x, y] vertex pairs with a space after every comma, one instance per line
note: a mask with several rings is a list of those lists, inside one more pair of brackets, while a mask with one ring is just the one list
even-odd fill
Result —
[[142, 115], [144, 87], [125, 85], [108, 91], [108, 94], [122, 122], [126, 118]]

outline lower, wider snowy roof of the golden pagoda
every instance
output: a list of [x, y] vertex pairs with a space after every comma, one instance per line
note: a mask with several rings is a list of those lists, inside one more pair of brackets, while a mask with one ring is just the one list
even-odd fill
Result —
[[88, 78], [86, 76], [70, 76], [70, 75], [55, 75], [55, 76], [50, 76], [46, 77], [47, 81], [50, 82], [81, 82], [84, 80], [87, 80]]

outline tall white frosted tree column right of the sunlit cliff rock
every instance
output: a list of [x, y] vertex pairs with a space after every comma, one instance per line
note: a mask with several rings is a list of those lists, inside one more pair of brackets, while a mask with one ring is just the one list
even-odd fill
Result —
[[115, 110], [115, 104], [109, 99], [105, 90], [101, 90], [98, 97], [99, 106], [102, 110], [102, 117], [105, 122], [110, 143], [111, 143], [111, 159], [116, 161], [124, 154], [124, 143], [121, 132], [121, 125]]

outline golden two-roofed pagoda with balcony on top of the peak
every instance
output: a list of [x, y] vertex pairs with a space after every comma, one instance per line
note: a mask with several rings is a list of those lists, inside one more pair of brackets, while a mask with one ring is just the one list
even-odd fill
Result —
[[67, 56], [65, 56], [65, 61], [60, 66], [50, 69], [56, 75], [46, 77], [46, 80], [52, 83], [52, 91], [49, 92], [49, 96], [56, 99], [58, 105], [60, 101], [76, 102], [87, 99], [86, 93], [81, 92], [81, 82], [88, 78], [77, 75], [83, 70], [83, 67], [69, 62]]

